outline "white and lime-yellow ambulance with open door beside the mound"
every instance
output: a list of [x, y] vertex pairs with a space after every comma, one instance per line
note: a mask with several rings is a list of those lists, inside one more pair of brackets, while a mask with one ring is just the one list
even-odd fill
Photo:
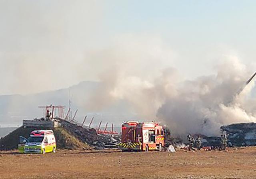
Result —
[[53, 131], [34, 130], [28, 139], [20, 136], [18, 148], [22, 153], [55, 153], [56, 140]]

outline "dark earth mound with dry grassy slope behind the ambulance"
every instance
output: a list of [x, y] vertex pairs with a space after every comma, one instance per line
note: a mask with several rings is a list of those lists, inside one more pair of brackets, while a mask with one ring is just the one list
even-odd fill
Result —
[[[97, 134], [93, 128], [83, 128], [63, 119], [55, 119], [61, 124], [61, 127], [54, 128], [57, 148], [61, 149], [104, 149], [106, 145], [116, 145], [120, 142], [119, 136]], [[18, 148], [19, 136], [28, 138], [33, 130], [42, 130], [47, 128], [25, 128], [20, 127], [0, 139], [0, 150], [11, 150]], [[90, 146], [90, 147], [89, 147]]]

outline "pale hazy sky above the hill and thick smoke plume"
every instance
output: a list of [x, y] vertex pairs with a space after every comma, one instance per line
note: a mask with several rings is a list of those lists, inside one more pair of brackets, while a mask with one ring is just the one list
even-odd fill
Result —
[[253, 0], [0, 0], [0, 94], [98, 81], [116, 69], [148, 80], [175, 67], [194, 79], [229, 57], [253, 68], [255, 7]]

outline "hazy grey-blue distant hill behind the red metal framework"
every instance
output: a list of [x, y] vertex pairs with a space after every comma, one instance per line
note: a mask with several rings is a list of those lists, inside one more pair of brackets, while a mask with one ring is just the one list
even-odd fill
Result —
[[[90, 110], [90, 96], [103, 95], [96, 94], [104, 88], [100, 82], [84, 81], [78, 85], [66, 89], [42, 92], [29, 95], [2, 95], [0, 96], [0, 126], [21, 126], [23, 119], [40, 118], [43, 116], [43, 110], [39, 105], [65, 105], [68, 110], [68, 100], [71, 99], [72, 114], [78, 109], [76, 120], [82, 122], [84, 116], [88, 114], [86, 124], [88, 125], [92, 116], [94, 116], [93, 126], [98, 126], [102, 120], [102, 128], [106, 122], [113, 122], [115, 126], [120, 126], [123, 120], [130, 120], [135, 116], [129, 111], [128, 102], [124, 100], [115, 101], [100, 110]], [[99, 104], [102, 102], [98, 99]], [[95, 103], [95, 101], [94, 101]]]

